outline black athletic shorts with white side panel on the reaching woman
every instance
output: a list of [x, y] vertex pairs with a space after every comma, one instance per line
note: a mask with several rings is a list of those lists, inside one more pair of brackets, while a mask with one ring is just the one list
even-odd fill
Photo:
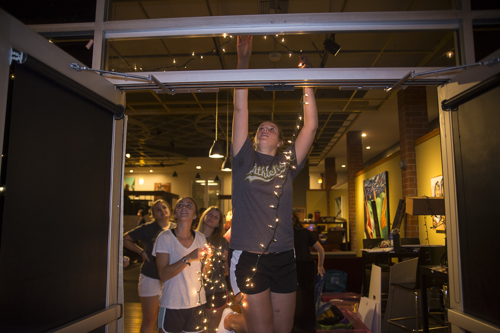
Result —
[[[254, 272], [258, 256], [252, 252], [229, 249], [229, 280], [234, 295], [241, 292], [259, 294], [268, 288], [276, 294], [289, 294], [297, 290], [294, 250], [262, 255]], [[251, 281], [247, 281], [254, 273]]]

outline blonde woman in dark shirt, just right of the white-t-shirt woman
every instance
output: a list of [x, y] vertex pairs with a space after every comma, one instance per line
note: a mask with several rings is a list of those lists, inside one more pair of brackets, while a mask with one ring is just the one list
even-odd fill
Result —
[[205, 285], [206, 317], [212, 328], [214, 327], [213, 323], [220, 322], [222, 311], [227, 308], [229, 296], [225, 282], [225, 277], [229, 274], [229, 266], [227, 265], [229, 243], [223, 237], [222, 217], [222, 211], [218, 207], [210, 206], [201, 214], [196, 228], [196, 231], [205, 235], [207, 243], [215, 249], [211, 259], [211, 275], [209, 275], [209, 280], [212, 283], [207, 282]]

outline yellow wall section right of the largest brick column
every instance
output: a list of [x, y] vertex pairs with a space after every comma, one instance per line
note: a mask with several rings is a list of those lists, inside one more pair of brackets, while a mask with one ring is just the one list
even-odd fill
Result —
[[[435, 135], [415, 146], [416, 179], [418, 196], [430, 197], [430, 178], [442, 175], [440, 136]], [[427, 239], [425, 220], [428, 226], [428, 239], [430, 245], [444, 245], [444, 234], [438, 234], [430, 229], [432, 220], [430, 216], [418, 217], [420, 243]]]

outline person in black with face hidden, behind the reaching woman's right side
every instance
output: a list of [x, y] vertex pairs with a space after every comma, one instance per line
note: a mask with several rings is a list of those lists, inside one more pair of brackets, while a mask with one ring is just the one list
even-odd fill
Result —
[[305, 229], [300, 223], [297, 214], [292, 214], [293, 221], [293, 244], [295, 246], [295, 260], [311, 260], [311, 252], [309, 247], [313, 247], [317, 251], [317, 272], [324, 275], [324, 249], [319, 242], [314, 238], [312, 233]]

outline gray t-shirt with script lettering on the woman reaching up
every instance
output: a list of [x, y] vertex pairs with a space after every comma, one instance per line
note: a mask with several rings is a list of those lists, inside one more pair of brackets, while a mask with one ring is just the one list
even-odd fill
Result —
[[[295, 147], [285, 151], [295, 154]], [[270, 205], [277, 205], [274, 191], [279, 193], [283, 185], [286, 161], [284, 153], [270, 156], [253, 149], [250, 138], [247, 137], [243, 146], [235, 156], [231, 156], [232, 166], [232, 221], [231, 240], [229, 248], [241, 251], [263, 251], [264, 246], [272, 238], [273, 230], [269, 225], [276, 225], [276, 210]], [[274, 239], [268, 252], [283, 252], [293, 249], [292, 213], [292, 181], [304, 167], [305, 159], [300, 166], [296, 160], [288, 167], [288, 176], [283, 185], [283, 193], [279, 198], [277, 215], [279, 225], [276, 228]]]

